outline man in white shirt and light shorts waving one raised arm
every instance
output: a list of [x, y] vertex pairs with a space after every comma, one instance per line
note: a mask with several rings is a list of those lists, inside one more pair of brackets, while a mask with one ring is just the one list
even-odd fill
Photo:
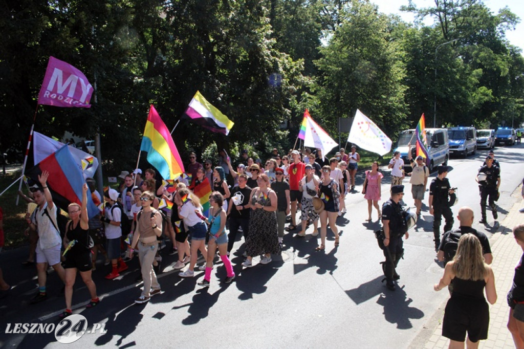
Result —
[[27, 224], [38, 232], [36, 246], [36, 269], [38, 273], [38, 294], [31, 299], [31, 304], [47, 299], [47, 267], [50, 265], [58, 277], [65, 283], [65, 270], [60, 264], [60, 247], [62, 239], [57, 224], [57, 206], [53, 203], [51, 192], [47, 187], [48, 171], [43, 171], [38, 180], [41, 187], [33, 192], [33, 199], [38, 207], [33, 218], [26, 214]]

